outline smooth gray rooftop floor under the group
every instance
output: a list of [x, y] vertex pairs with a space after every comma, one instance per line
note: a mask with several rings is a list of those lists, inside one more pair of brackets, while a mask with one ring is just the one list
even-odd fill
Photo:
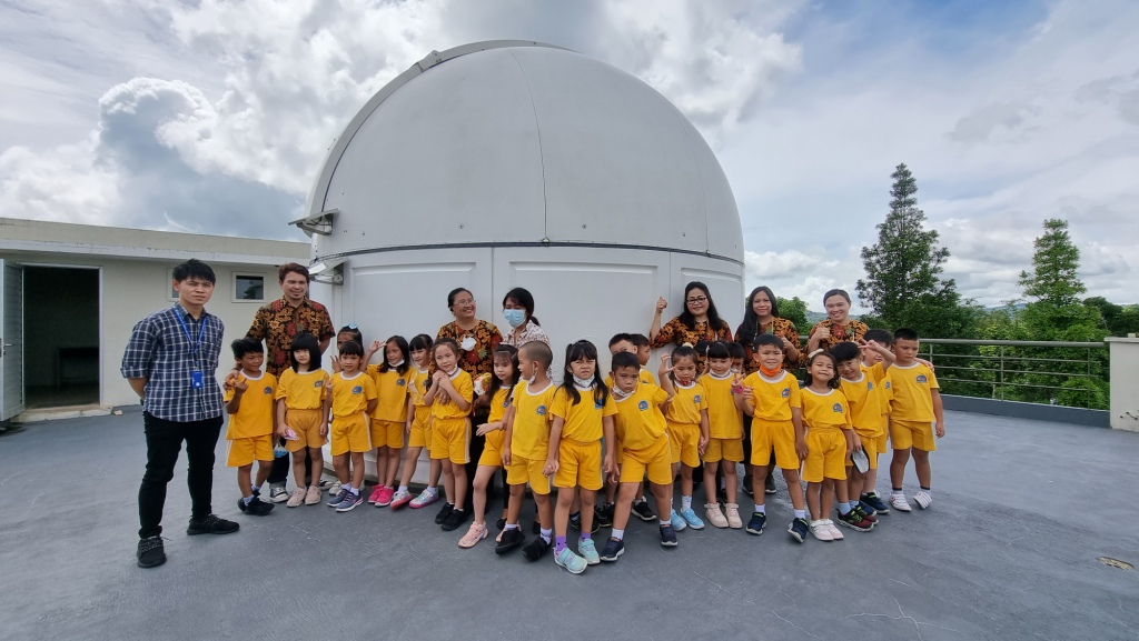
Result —
[[492, 540], [460, 550], [434, 509], [245, 517], [221, 463], [215, 511], [241, 531], [188, 537], [185, 460], [170, 560], [144, 570], [141, 416], [35, 424], [0, 437], [0, 638], [1139, 639], [1139, 570], [1096, 560], [1139, 565], [1139, 434], [948, 425], [931, 510], [798, 545], [780, 487], [763, 536], [710, 527], [663, 550], [636, 521], [620, 562], [571, 576], [495, 557]]

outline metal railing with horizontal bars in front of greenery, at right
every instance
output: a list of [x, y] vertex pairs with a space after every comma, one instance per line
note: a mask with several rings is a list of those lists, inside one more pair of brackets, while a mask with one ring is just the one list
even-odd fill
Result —
[[1107, 395], [1105, 343], [923, 338], [920, 355], [947, 393], [981, 396], [988, 387], [1001, 401], [1082, 408], [1104, 405]]

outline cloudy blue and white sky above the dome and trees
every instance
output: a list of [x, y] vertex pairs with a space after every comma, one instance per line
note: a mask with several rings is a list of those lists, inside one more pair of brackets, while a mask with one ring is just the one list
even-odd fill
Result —
[[1130, 0], [0, 0], [0, 215], [302, 240], [285, 223], [388, 80], [432, 50], [539, 40], [699, 129], [748, 288], [854, 296], [906, 163], [964, 296], [1019, 298], [1062, 217], [1088, 295], [1136, 303], [1136, 25]]

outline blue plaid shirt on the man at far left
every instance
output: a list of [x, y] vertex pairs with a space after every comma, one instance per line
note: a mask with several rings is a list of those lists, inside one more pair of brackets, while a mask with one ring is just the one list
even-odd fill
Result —
[[[178, 314], [186, 322], [185, 329]], [[195, 352], [199, 331], [202, 342]], [[147, 379], [142, 409], [179, 422], [220, 416], [222, 397], [216, 371], [224, 331], [218, 317], [203, 310], [202, 319], [195, 320], [179, 303], [140, 320], [131, 331], [120, 371], [123, 378]], [[203, 375], [205, 386], [200, 389], [191, 386], [195, 370]]]

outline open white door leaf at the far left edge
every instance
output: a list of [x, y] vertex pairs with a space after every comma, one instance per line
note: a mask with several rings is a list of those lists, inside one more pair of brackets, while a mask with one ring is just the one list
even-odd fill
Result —
[[0, 260], [0, 422], [24, 411], [24, 268]]

